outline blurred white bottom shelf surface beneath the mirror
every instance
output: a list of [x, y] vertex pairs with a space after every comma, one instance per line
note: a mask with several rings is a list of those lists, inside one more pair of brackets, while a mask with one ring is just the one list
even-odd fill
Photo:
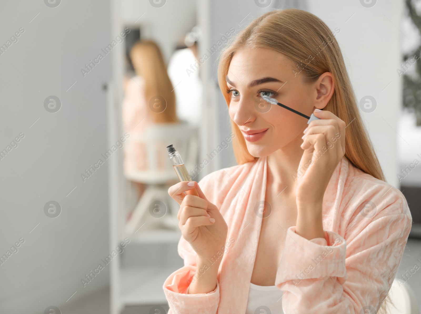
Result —
[[120, 269], [120, 298], [124, 305], [166, 304], [163, 283], [176, 268], [142, 267]]

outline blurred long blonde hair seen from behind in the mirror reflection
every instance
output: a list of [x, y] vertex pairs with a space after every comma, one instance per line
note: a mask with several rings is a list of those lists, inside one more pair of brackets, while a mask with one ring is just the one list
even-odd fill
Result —
[[168, 77], [167, 67], [158, 45], [152, 40], [136, 42], [130, 51], [130, 58], [136, 74], [145, 81], [145, 98], [149, 101], [154, 96], [162, 96], [166, 100], [166, 108], [162, 112], [149, 110], [151, 122], [174, 123], [179, 121], [176, 115], [176, 96], [173, 84]]

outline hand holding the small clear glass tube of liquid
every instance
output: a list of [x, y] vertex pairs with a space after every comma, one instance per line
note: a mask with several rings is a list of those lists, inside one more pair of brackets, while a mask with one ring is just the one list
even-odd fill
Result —
[[[194, 182], [189, 187], [187, 183]], [[184, 193], [196, 188], [199, 196]], [[228, 226], [218, 208], [210, 203], [195, 181], [182, 181], [172, 185], [168, 194], [180, 204], [177, 215], [179, 227], [184, 239], [192, 246], [197, 256], [203, 260], [218, 257], [223, 253]], [[215, 219], [211, 222], [210, 219]], [[219, 259], [219, 262], [221, 260]]]

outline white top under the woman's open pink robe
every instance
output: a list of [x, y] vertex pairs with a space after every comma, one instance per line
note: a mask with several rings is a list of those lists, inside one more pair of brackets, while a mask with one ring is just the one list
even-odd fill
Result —
[[281, 298], [283, 293], [276, 286], [258, 286], [250, 282], [245, 314], [284, 314]]

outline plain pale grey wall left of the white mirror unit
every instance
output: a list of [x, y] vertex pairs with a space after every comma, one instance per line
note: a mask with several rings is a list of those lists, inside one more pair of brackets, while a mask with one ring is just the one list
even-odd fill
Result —
[[[80, 282], [109, 254], [107, 161], [86, 182], [80, 174], [109, 148], [111, 57], [85, 77], [80, 69], [117, 36], [109, 22], [108, 1], [0, 3], [1, 44], [25, 30], [0, 55], [1, 150], [25, 135], [0, 160], [0, 255], [25, 240], [0, 265], [0, 313], [44, 313], [108, 284], [108, 269]], [[62, 102], [56, 113], [44, 108], [49, 95]], [[51, 200], [56, 218], [44, 213]]]

